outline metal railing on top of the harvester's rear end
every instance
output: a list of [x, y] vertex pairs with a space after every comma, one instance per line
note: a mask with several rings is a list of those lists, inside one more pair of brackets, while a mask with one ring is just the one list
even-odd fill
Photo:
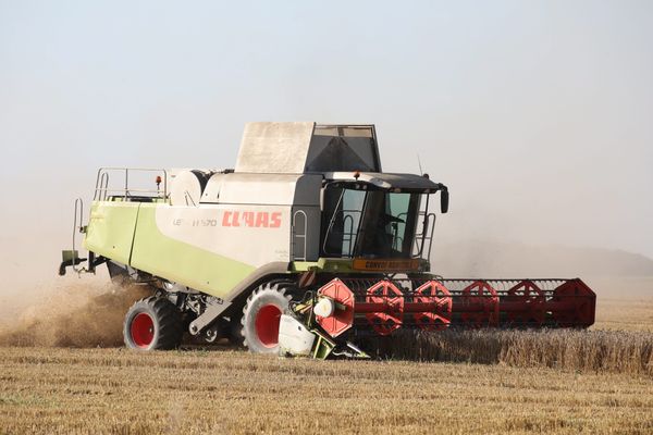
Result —
[[[110, 174], [121, 174], [122, 179], [120, 188], [110, 188]], [[143, 189], [130, 187], [130, 179], [135, 173], [153, 173], [158, 174], [156, 178], [156, 189]], [[161, 189], [163, 184], [163, 189]], [[93, 196], [94, 201], [104, 201], [109, 197], [122, 197], [125, 200], [133, 197], [151, 197], [151, 198], [168, 198], [168, 171], [161, 169], [149, 167], [100, 167], [96, 177], [96, 188]]]

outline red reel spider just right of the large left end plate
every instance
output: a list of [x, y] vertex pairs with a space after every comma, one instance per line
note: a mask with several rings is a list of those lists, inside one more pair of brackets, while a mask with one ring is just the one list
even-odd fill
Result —
[[365, 314], [379, 335], [390, 335], [402, 326], [404, 295], [390, 281], [380, 281], [367, 290], [366, 302], [379, 304], [379, 311]]

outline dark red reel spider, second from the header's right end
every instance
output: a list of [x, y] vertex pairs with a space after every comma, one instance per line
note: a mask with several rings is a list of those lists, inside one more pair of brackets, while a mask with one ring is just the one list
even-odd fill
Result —
[[517, 326], [540, 326], [546, 320], [546, 296], [532, 281], [526, 279], [508, 290], [505, 301], [518, 306], [506, 313]]

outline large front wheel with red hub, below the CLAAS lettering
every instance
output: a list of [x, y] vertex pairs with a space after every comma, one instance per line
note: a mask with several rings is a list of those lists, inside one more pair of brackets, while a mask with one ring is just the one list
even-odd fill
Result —
[[288, 308], [288, 289], [283, 284], [267, 283], [247, 298], [241, 319], [241, 335], [250, 352], [279, 352], [279, 322]]

